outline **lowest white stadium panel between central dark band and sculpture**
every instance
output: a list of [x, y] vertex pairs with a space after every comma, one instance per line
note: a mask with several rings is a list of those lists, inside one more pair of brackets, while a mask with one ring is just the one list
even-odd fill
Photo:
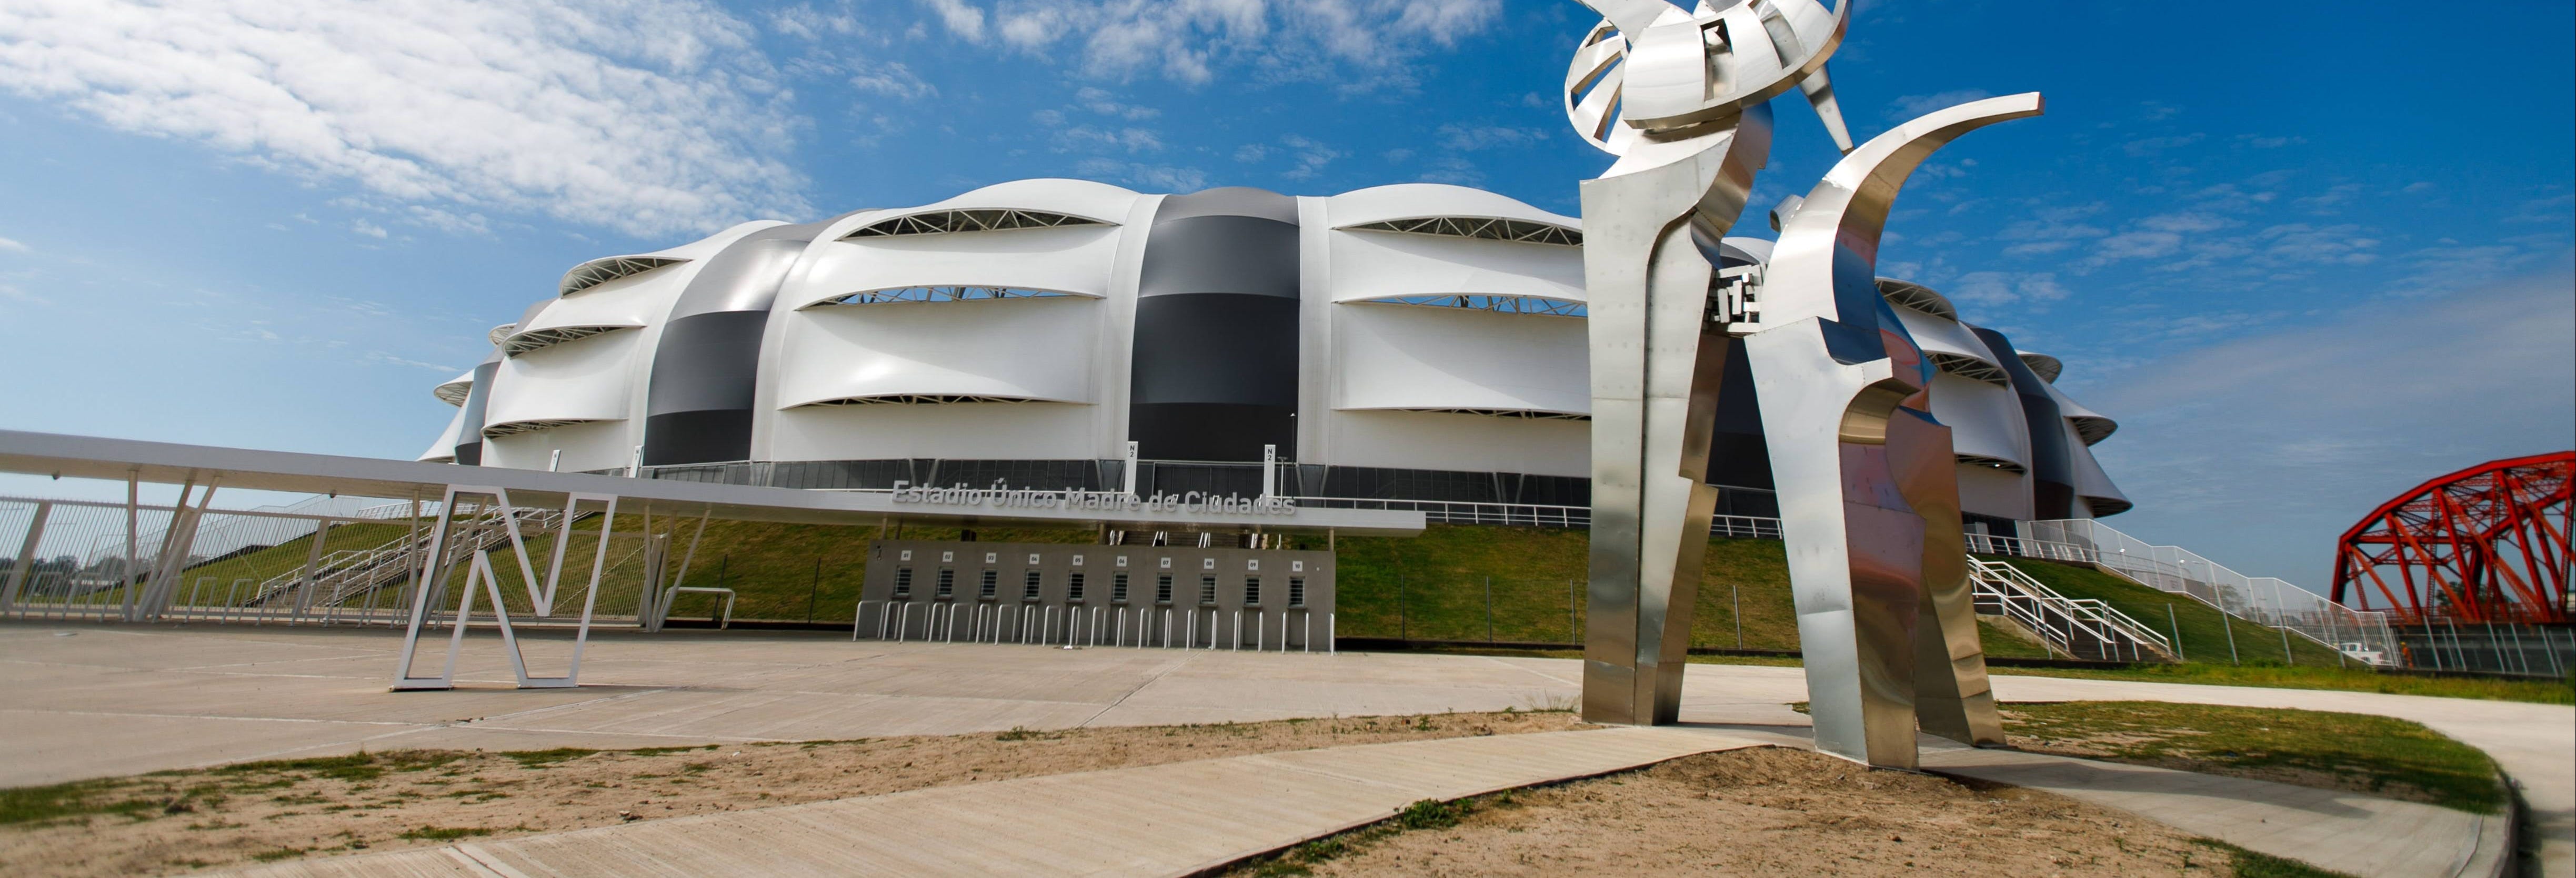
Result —
[[1450, 412], [1332, 412], [1332, 466], [1592, 476], [1592, 422]]

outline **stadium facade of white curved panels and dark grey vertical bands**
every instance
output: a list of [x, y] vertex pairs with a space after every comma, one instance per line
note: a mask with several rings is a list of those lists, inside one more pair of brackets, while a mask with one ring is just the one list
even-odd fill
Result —
[[[1579, 219], [1430, 183], [1015, 180], [747, 221], [572, 268], [435, 389], [456, 417], [422, 461], [1252, 497], [1267, 451], [1273, 492], [1311, 505], [1587, 507], [1579, 245]], [[1880, 291], [1940, 368], [1971, 530], [2128, 510], [2089, 451], [2115, 425], [2056, 389], [2056, 358], [1932, 288]], [[1726, 381], [1718, 512], [1777, 515], [1741, 350]]]

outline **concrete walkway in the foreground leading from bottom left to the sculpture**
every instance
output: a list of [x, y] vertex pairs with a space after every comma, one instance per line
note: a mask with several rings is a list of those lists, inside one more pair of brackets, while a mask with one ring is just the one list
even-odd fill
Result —
[[240, 875], [1188, 875], [1381, 821], [1422, 798], [1739, 747], [1759, 744], [1667, 726], [1301, 749], [281, 863]]

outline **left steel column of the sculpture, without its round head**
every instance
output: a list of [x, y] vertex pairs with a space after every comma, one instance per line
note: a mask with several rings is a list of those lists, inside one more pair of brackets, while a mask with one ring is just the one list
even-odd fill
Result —
[[[1770, 113], [1685, 144], [1667, 165], [1584, 180], [1592, 340], [1592, 564], [1584, 718], [1672, 724], [1708, 556], [1708, 440], [1731, 340], [1708, 322], [1723, 237], [1770, 157]], [[1682, 147], [1682, 149], [1674, 149]], [[1656, 149], [1641, 149], [1654, 154]]]

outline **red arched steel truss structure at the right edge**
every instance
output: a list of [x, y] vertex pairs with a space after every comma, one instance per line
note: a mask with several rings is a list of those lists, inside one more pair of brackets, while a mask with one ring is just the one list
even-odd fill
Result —
[[2385, 602], [2393, 621], [2566, 623], [2571, 484], [2576, 451], [2416, 484], [2344, 530], [2334, 600]]

